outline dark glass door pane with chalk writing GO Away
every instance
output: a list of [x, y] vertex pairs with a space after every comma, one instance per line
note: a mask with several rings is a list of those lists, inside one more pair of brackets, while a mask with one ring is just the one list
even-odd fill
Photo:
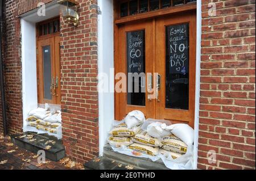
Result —
[[[145, 106], [145, 31], [127, 32], [127, 104]], [[131, 78], [129, 73], [138, 73], [142, 77]], [[135, 73], [135, 74], [134, 74]], [[137, 75], [138, 75], [137, 74]]]

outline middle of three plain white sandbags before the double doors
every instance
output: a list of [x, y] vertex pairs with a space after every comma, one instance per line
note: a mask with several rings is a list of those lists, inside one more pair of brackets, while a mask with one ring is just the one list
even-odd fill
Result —
[[166, 127], [165, 123], [155, 122], [151, 123], [147, 127], [147, 133], [154, 137], [154, 138], [160, 138], [164, 136], [168, 136], [171, 134], [170, 130], [164, 129]]

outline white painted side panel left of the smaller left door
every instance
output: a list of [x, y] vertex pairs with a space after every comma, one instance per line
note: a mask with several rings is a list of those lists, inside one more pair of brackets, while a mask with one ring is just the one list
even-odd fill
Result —
[[38, 107], [36, 85], [36, 29], [35, 23], [20, 20], [22, 34], [22, 103], [23, 131], [26, 130], [27, 114]]

